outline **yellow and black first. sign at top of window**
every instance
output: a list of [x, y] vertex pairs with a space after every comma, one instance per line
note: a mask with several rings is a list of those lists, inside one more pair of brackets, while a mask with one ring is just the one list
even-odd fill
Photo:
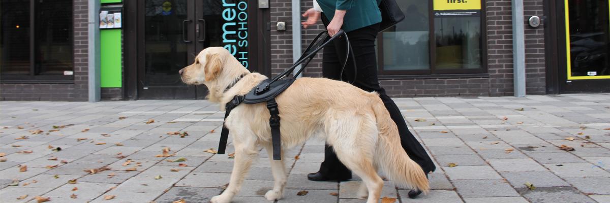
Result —
[[434, 16], [475, 17], [481, 15], [481, 0], [434, 0]]

